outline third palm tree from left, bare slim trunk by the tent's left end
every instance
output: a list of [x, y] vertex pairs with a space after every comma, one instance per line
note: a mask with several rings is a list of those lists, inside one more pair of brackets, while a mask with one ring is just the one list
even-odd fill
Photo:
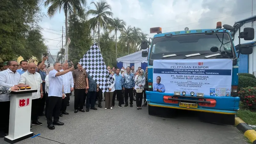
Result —
[[120, 20], [119, 18], [114, 18], [110, 23], [110, 32], [114, 31], [116, 36], [116, 59], [117, 59], [117, 31], [122, 31], [125, 29], [126, 23], [124, 20]]

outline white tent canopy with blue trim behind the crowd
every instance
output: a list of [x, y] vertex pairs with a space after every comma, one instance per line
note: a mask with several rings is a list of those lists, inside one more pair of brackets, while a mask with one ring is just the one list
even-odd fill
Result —
[[142, 57], [141, 53], [142, 51], [148, 51], [146, 50], [141, 50], [139, 52], [134, 52], [129, 55], [123, 56], [121, 58], [117, 58], [117, 67], [118, 68], [126, 68], [127, 66], [134, 66], [134, 69], [138, 69], [138, 67], [141, 67], [142, 69], [146, 69], [148, 65], [148, 58], [147, 57]]

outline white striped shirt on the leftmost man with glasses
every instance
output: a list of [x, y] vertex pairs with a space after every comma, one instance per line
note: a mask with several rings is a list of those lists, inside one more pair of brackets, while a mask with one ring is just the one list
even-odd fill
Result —
[[[18, 72], [12, 72], [9, 68], [0, 72], [0, 86], [7, 89], [19, 84], [20, 74]], [[10, 101], [10, 93], [0, 95], [0, 102]]]

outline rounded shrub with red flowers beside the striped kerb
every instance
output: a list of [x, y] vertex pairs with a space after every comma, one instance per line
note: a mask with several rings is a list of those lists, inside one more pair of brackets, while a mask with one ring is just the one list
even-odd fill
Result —
[[250, 109], [256, 109], [256, 88], [255, 87], [246, 87], [241, 88], [238, 92], [241, 102]]

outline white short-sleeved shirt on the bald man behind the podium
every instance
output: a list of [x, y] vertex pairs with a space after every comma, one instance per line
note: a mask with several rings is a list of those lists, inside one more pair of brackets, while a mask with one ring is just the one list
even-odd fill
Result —
[[43, 81], [38, 72], [35, 72], [35, 74], [32, 74], [32, 73], [26, 71], [25, 73], [23, 73], [20, 76], [19, 84], [26, 84], [26, 85], [29, 85], [31, 87], [31, 89], [37, 90], [37, 92], [32, 93], [32, 100], [41, 98], [40, 88], [41, 88], [42, 83], [43, 83]]

